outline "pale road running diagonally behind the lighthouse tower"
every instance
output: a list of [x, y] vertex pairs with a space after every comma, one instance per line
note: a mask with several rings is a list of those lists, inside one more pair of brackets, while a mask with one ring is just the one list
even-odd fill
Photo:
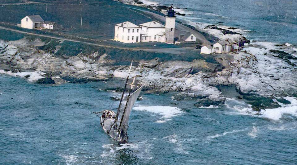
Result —
[[[147, 10], [141, 10], [141, 9], [133, 8], [133, 7], [129, 7], [129, 8], [131, 8], [131, 9], [136, 9], [136, 10], [140, 10], [140, 11], [146, 13], [146, 14], [149, 14], [149, 15], [155, 17], [156, 19], [159, 19], [159, 20], [161, 20], [161, 21], [163, 21], [163, 22], [166, 22], [166, 17], [163, 16], [163, 15], [156, 14], [156, 13], [153, 13], [153, 12], [151, 12], [151, 11], [147, 11]], [[203, 44], [205, 44], [205, 45], [210, 44], [210, 42], [204, 37], [204, 35], [202, 35], [202, 34], [199, 32], [199, 31], [201, 31], [201, 32], [205, 32], [205, 33], [206, 33], [206, 31], [204, 31], [204, 30], [197, 29], [198, 31], [196, 31], [196, 30], [191, 29], [190, 27], [187, 27], [187, 26], [185, 26], [185, 25], [183, 25], [183, 24], [180, 24], [180, 23], [175, 23], [175, 28], [178, 29], [178, 30], [181, 30], [181, 31], [188, 31], [188, 32], [191, 32], [191, 33], [193, 33], [193, 34], [197, 37], [197, 39], [198, 39], [199, 41], [201, 41]]]

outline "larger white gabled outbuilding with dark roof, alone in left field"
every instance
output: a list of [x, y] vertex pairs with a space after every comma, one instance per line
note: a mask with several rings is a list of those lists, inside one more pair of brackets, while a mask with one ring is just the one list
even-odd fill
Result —
[[27, 15], [21, 20], [21, 27], [35, 29], [43, 27], [44, 20], [40, 15]]

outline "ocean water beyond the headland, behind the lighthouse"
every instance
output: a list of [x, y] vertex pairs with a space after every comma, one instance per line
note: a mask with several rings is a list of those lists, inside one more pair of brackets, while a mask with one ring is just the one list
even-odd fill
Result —
[[153, 0], [178, 7], [185, 22], [203, 28], [208, 24], [249, 30], [248, 39], [297, 44], [296, 0]]

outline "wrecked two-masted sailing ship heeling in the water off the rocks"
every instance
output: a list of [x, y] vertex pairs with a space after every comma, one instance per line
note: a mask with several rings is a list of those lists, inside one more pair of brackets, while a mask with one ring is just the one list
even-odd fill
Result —
[[[135, 76], [132, 79], [132, 82], [129, 83], [129, 81], [131, 81], [129, 79], [129, 76], [132, 68], [132, 63], [133, 61], [131, 62], [129, 68], [129, 73], [126, 79], [125, 87], [123, 89], [117, 112], [114, 113], [114, 111], [111, 110], [104, 110], [101, 116], [98, 115], [98, 117], [100, 117], [100, 123], [103, 130], [111, 138], [115, 139], [119, 143], [127, 142], [130, 113], [143, 87], [136, 83]], [[127, 96], [125, 96], [125, 94]]]

